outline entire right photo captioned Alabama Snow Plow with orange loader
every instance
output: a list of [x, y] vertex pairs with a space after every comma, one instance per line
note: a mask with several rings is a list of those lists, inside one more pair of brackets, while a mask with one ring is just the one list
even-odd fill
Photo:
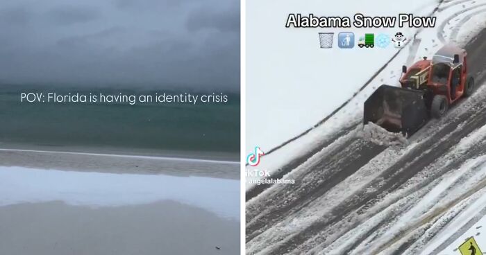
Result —
[[486, 252], [486, 0], [245, 10], [246, 254]]

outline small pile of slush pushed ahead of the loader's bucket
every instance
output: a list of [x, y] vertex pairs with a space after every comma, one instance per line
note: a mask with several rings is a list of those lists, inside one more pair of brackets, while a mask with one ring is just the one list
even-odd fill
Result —
[[369, 122], [356, 134], [366, 141], [371, 141], [379, 146], [407, 146], [408, 141], [401, 133], [388, 132], [375, 123]]

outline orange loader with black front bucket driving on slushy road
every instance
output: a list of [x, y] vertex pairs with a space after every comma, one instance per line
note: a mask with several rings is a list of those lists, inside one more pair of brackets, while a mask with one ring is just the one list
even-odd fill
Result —
[[381, 85], [364, 101], [364, 124], [410, 136], [430, 117], [440, 118], [449, 105], [474, 91], [467, 53], [457, 46], [444, 46], [432, 60], [424, 57], [410, 68], [403, 66], [402, 72], [401, 87]]

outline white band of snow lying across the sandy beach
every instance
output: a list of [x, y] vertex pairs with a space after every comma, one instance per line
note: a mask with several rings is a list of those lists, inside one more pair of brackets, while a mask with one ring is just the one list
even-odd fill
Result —
[[99, 207], [175, 200], [239, 220], [239, 197], [240, 184], [233, 179], [0, 166], [0, 206], [62, 201]]

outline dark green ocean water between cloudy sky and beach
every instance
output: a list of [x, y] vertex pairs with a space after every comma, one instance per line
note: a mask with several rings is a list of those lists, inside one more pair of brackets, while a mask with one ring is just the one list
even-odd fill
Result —
[[[0, 85], [0, 143], [66, 148], [123, 148], [226, 157], [240, 151], [240, 95], [228, 103], [21, 103], [22, 92], [72, 94], [155, 94], [162, 89], [134, 91], [85, 87]], [[177, 91], [172, 91], [177, 92]], [[186, 91], [181, 91], [186, 92]], [[217, 91], [219, 94], [219, 91]], [[212, 92], [211, 92], [212, 93]]]

